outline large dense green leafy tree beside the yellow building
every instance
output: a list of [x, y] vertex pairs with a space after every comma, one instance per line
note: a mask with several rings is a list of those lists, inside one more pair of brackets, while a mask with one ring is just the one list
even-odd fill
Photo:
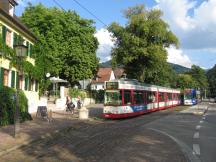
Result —
[[71, 83], [93, 77], [99, 61], [92, 20], [42, 4], [29, 4], [21, 19], [39, 39], [34, 51], [43, 74], [50, 72]]

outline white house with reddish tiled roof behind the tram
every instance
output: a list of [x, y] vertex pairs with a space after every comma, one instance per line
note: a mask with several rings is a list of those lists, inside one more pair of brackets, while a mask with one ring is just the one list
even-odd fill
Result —
[[91, 90], [104, 90], [104, 82], [114, 79], [112, 68], [99, 68], [96, 79], [91, 82]]

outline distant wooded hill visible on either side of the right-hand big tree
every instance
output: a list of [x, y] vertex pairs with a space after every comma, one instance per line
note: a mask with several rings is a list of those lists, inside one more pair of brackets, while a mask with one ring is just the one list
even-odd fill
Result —
[[[185, 73], [190, 71], [190, 68], [181, 66], [181, 65], [177, 65], [177, 64], [173, 64], [173, 63], [168, 63], [173, 70], [177, 73], [177, 74], [181, 74], [181, 73]], [[106, 62], [102, 62], [100, 63], [99, 67], [101, 68], [106, 68], [106, 67], [112, 67], [111, 65], [111, 61], [106, 61]]]

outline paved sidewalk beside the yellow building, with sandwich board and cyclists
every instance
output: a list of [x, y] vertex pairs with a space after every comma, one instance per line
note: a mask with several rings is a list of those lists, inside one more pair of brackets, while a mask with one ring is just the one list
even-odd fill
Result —
[[[77, 110], [73, 115], [65, 112], [65, 110], [54, 110], [52, 113], [52, 121], [50, 122], [47, 119], [36, 118], [34, 115], [32, 121], [26, 121], [20, 124], [19, 137], [16, 139], [14, 138], [14, 125], [0, 127], [0, 156], [24, 145], [28, 145], [33, 141], [49, 137], [70, 126], [84, 123], [78, 117]], [[89, 120], [92, 119], [90, 118]]]

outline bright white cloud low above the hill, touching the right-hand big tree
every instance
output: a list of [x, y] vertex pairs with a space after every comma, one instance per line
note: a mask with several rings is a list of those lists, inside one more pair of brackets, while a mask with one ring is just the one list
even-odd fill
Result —
[[182, 65], [188, 68], [191, 68], [191, 65], [193, 65], [190, 58], [185, 55], [182, 50], [176, 49], [174, 46], [166, 48], [166, 50], [168, 52], [167, 62]]

